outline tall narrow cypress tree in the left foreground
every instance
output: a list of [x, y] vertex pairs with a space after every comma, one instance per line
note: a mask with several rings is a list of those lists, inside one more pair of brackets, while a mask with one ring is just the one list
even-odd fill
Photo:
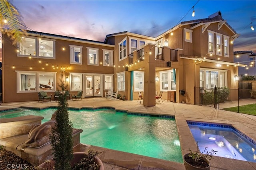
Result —
[[[63, 74], [61, 75], [63, 78]], [[56, 111], [56, 123], [52, 128], [50, 141], [56, 170], [71, 170], [70, 161], [73, 158], [73, 125], [69, 120], [68, 102], [66, 100], [66, 86], [63, 79], [59, 84], [62, 93], [59, 95], [58, 109]]]

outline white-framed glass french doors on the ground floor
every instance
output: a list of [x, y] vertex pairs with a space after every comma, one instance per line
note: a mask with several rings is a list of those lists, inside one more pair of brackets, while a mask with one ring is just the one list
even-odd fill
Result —
[[103, 87], [102, 87], [102, 75], [97, 74], [84, 74], [84, 96], [85, 97], [94, 97], [102, 96]]

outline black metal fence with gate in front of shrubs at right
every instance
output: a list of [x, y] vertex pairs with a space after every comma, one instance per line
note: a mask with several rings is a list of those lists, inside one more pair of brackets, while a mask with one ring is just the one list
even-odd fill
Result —
[[[256, 103], [256, 90], [196, 87], [195, 105], [210, 106], [216, 109], [235, 107], [233, 111], [239, 113], [239, 106]], [[248, 102], [250, 101], [250, 102]]]

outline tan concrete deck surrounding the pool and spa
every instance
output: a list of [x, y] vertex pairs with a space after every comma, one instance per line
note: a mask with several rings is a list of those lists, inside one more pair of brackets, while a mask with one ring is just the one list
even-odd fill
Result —
[[[179, 104], [167, 102], [164, 100], [164, 104], [157, 103], [156, 106], [146, 107], [133, 101], [122, 100], [109, 100], [107, 98], [86, 98], [83, 100], [68, 100], [69, 107], [82, 108], [82, 107], [114, 107], [118, 110], [125, 110], [134, 113], [150, 113], [161, 115], [174, 115], [176, 125], [180, 138], [180, 147], [182, 155], [189, 152], [188, 148], [196, 151], [196, 142], [190, 132], [190, 129], [186, 121], [202, 121], [209, 123], [221, 123], [232, 125], [236, 129], [242, 131], [245, 135], [256, 141], [256, 116], [246, 115], [242, 113], [235, 113], [225, 111], [222, 109], [215, 109], [208, 106], [197, 106], [192, 104]], [[220, 105], [219, 108], [233, 107], [237, 105], [237, 102], [230, 102], [225, 106]], [[240, 106], [245, 104], [256, 104], [256, 100], [247, 99], [239, 100]], [[33, 108], [45, 108], [50, 106], [57, 106], [58, 102], [14, 102], [14, 103], [1, 103], [1, 111], [5, 109], [13, 109], [16, 107], [33, 107]], [[120, 152], [116, 150], [110, 150], [94, 146], [80, 145], [78, 150], [87, 150], [88, 148], [95, 148], [104, 152], [99, 156], [106, 170], [183, 170], [184, 164], [171, 162], [166, 160], [160, 160], [156, 158], [150, 158], [147, 156], [141, 156], [137, 154], [130, 154], [126, 152]], [[214, 159], [210, 160], [212, 170], [256, 170], [256, 163], [247, 162], [242, 160], [235, 160], [229, 158], [223, 158], [213, 156]]]

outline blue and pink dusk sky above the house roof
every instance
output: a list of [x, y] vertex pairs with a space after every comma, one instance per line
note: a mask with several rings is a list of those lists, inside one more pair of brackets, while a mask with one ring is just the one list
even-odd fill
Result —
[[94, 41], [104, 41], [107, 34], [122, 31], [156, 37], [181, 21], [208, 18], [220, 11], [222, 18], [241, 34], [234, 41], [234, 51], [256, 53], [256, 30], [250, 29], [251, 22], [256, 29], [256, 0], [200, 0], [198, 3], [197, 0], [10, 2], [21, 12], [28, 30]]

